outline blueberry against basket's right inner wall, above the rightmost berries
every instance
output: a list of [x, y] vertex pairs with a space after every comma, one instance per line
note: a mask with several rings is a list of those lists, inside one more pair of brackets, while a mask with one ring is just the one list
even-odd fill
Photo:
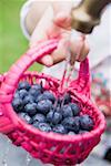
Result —
[[78, 116], [80, 114], [81, 107], [75, 103], [70, 103], [70, 106], [73, 112], [73, 116]]

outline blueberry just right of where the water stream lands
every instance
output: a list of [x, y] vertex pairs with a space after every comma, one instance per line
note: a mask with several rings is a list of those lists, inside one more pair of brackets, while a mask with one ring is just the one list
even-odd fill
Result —
[[61, 107], [61, 111], [62, 111], [63, 117], [73, 116], [73, 113], [72, 113], [72, 110], [71, 110], [70, 105], [63, 105], [63, 107]]

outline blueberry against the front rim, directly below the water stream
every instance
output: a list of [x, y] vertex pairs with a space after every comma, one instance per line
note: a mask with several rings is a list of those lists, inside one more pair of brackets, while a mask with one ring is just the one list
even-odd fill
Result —
[[53, 127], [54, 133], [67, 134], [68, 131], [62, 124], [58, 124]]

